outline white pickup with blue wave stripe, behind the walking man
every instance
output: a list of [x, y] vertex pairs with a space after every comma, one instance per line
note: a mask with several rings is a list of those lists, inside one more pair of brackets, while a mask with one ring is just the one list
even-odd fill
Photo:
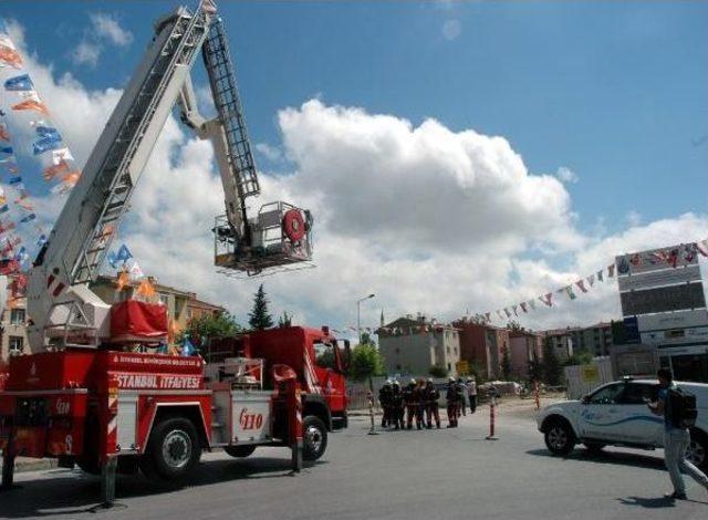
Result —
[[[677, 384], [696, 395], [698, 418], [690, 429], [686, 457], [695, 465], [708, 467], [708, 384]], [[607, 445], [641, 449], [662, 448], [664, 418], [652, 414], [646, 399], [656, 401], [656, 379], [608, 383], [595, 388], [582, 401], [566, 401], [541, 409], [537, 422], [545, 445], [555, 455], [570, 454], [582, 443], [590, 450]]]

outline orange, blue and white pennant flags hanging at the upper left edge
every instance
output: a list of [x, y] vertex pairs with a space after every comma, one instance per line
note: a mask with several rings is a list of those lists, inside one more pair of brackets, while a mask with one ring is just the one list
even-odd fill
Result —
[[[48, 233], [39, 223], [17, 154], [24, 152], [40, 160], [42, 177], [53, 184], [50, 187], [53, 195], [67, 194], [81, 177], [81, 171], [75, 167], [73, 155], [52, 123], [49, 106], [24, 70], [24, 60], [2, 20], [0, 69], [17, 71], [2, 85], [2, 97], [9, 108], [0, 107], [0, 166], [6, 183], [4, 186], [0, 185], [0, 274], [12, 275], [14, 280], [19, 280], [19, 285], [24, 285], [27, 280], [21, 271], [28, 267], [30, 251], [41, 248], [48, 240]], [[33, 142], [27, 149], [13, 139], [6, 110], [10, 110], [20, 119], [29, 119]]]

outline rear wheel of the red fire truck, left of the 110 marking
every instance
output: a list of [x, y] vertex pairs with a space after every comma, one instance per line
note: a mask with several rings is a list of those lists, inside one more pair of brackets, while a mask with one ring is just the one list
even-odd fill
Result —
[[147, 477], [176, 480], [189, 474], [200, 457], [195, 425], [184, 417], [168, 417], [153, 428], [140, 470]]

